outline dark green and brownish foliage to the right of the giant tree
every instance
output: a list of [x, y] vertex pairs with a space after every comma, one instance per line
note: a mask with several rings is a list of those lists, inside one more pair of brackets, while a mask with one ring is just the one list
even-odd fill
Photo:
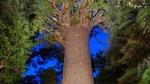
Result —
[[[112, 84], [137, 84], [143, 79], [146, 73], [144, 71], [149, 66], [145, 65], [147, 61], [149, 63], [149, 60], [145, 59], [150, 56], [150, 9], [148, 6], [130, 7], [128, 0], [121, 1], [120, 5], [115, 2], [110, 5], [111, 49], [106, 55], [107, 65], [103, 75], [106, 75]], [[145, 80], [149, 81], [148, 78]], [[102, 83], [107, 84], [105, 81], [102, 80]]]

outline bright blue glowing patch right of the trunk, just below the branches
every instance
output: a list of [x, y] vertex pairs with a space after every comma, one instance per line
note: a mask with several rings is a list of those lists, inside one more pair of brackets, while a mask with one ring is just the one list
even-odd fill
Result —
[[107, 51], [109, 48], [109, 34], [104, 32], [98, 26], [95, 26], [91, 33], [89, 47], [92, 56], [96, 56], [99, 51]]

